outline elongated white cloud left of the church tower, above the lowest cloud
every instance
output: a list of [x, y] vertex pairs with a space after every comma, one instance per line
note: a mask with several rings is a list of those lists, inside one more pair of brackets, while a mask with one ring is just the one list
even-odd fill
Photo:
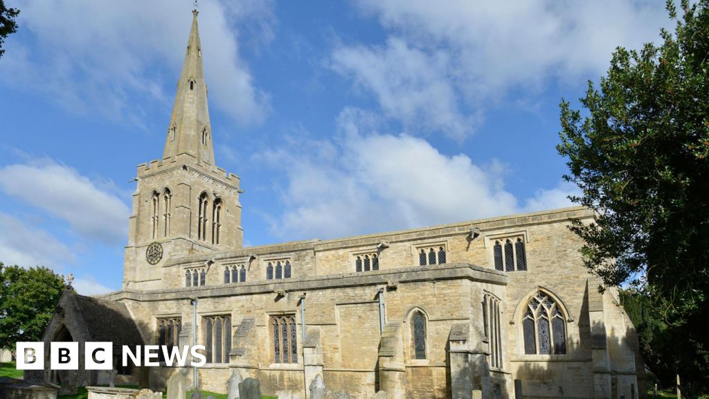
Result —
[[52, 161], [7, 165], [0, 168], [0, 190], [64, 220], [85, 239], [125, 244], [128, 206], [104, 182], [72, 168]]

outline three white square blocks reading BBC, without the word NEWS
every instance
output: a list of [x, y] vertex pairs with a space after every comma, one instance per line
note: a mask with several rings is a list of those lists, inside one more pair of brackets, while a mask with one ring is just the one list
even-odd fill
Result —
[[[44, 370], [44, 342], [18, 342], [18, 370]], [[50, 368], [52, 370], [79, 369], [78, 342], [51, 342]], [[113, 369], [113, 344], [111, 342], [86, 342], [84, 344], [84, 368], [86, 370]]]

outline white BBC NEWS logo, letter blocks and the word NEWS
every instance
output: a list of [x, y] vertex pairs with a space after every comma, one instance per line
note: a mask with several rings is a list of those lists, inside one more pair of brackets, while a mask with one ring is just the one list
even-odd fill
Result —
[[[18, 370], [44, 370], [44, 342], [18, 342], [17, 362]], [[203, 353], [203, 345], [195, 346], [164, 346], [145, 345], [135, 346], [131, 349], [128, 345], [121, 347], [121, 361], [123, 367], [129, 366], [160, 366], [160, 354], [165, 366], [191, 366], [201, 367], [207, 362]], [[143, 356], [141, 356], [141, 354]], [[78, 370], [79, 369], [79, 342], [51, 342], [50, 343], [50, 369], [52, 370]], [[191, 360], [189, 359], [191, 358]], [[113, 343], [112, 342], [86, 342], [84, 344], [84, 368], [86, 370], [112, 370], [113, 369]]]

